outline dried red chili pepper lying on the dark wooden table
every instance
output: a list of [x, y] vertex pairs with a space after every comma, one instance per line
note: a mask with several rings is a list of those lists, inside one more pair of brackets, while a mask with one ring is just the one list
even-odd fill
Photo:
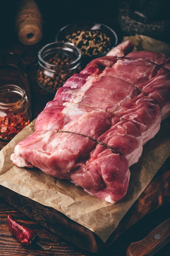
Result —
[[39, 237], [36, 232], [28, 227], [20, 225], [11, 214], [8, 215], [7, 224], [13, 236], [15, 236], [23, 245], [37, 244], [45, 250], [51, 249], [51, 246], [48, 248], [44, 247], [44, 245], [39, 242]]

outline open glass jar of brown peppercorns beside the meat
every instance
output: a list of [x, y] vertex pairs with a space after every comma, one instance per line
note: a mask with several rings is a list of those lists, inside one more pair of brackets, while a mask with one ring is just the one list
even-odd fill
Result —
[[39, 50], [38, 63], [40, 87], [54, 94], [68, 78], [81, 70], [81, 52], [72, 43], [49, 43]]

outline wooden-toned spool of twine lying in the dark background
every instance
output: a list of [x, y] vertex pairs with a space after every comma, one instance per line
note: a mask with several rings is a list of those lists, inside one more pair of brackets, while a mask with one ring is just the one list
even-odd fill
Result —
[[34, 0], [22, 0], [15, 21], [18, 39], [24, 45], [35, 45], [42, 38], [41, 13]]

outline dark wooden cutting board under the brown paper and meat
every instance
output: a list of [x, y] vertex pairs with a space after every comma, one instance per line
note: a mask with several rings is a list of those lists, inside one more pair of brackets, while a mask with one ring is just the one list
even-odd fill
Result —
[[89, 252], [99, 252], [111, 245], [120, 234], [146, 214], [170, 200], [170, 157], [159, 169], [153, 180], [120, 221], [113, 234], [104, 243], [89, 229], [70, 220], [63, 213], [26, 198], [0, 186], [0, 196], [42, 226], [74, 245]]

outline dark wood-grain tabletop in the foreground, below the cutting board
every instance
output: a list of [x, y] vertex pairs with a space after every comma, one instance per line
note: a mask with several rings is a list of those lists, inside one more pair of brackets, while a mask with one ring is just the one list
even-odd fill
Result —
[[[104, 249], [97, 254], [93, 254], [60, 238], [0, 198], [0, 256], [126, 256], [126, 249], [129, 244], [147, 236], [153, 228], [167, 218], [169, 209], [170, 202], [139, 220], [139, 222], [125, 231], [107, 249]], [[21, 245], [9, 232], [7, 227], [8, 214], [13, 214], [13, 216], [23, 225], [34, 229], [39, 235], [41, 243], [44, 243], [44, 245], [51, 245], [52, 249], [46, 252], [39, 249], [39, 247], [29, 248]], [[157, 252], [155, 256], [169, 256], [169, 252], [170, 243]]]

